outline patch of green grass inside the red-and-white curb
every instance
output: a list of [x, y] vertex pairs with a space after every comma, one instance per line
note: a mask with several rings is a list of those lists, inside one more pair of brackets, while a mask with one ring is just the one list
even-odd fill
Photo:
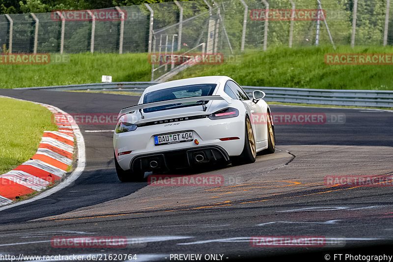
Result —
[[0, 175], [33, 156], [44, 131], [56, 131], [52, 113], [31, 102], [0, 97]]

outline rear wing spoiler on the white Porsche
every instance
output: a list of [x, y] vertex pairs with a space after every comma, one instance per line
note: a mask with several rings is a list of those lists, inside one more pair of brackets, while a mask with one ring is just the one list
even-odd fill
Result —
[[210, 101], [210, 100], [225, 100], [228, 104], [232, 103], [232, 101], [229, 98], [226, 98], [221, 95], [207, 95], [207, 96], [177, 98], [177, 99], [171, 99], [171, 100], [166, 100], [166, 101], [152, 102], [152, 103], [146, 103], [146, 104], [140, 104], [140, 105], [135, 105], [135, 106], [131, 106], [131, 107], [126, 107], [126, 108], [123, 108], [122, 110], [120, 110], [120, 113], [117, 118], [119, 118], [122, 115], [131, 113], [133, 111], [138, 111], [138, 110], [142, 110], [145, 108], [165, 106], [165, 105], [171, 105], [171, 104], [177, 104], [177, 103]]

